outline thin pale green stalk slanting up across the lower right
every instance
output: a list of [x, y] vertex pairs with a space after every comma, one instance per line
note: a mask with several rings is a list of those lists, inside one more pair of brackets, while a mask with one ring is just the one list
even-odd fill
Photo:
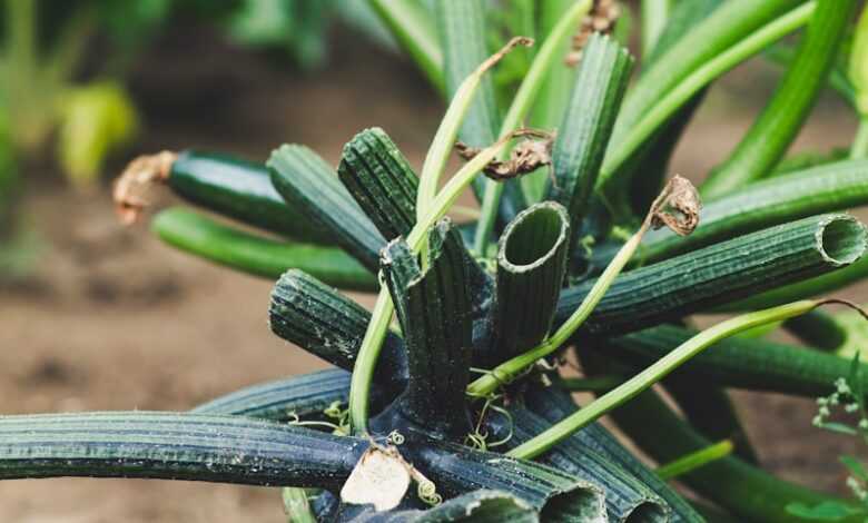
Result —
[[507, 454], [513, 457], [532, 460], [546, 452], [565, 437], [569, 437], [574, 432], [593, 423], [600, 416], [648, 389], [669, 373], [714, 343], [760, 325], [780, 322], [808, 313], [822, 303], [823, 302], [806, 299], [765, 310], [757, 310], [721, 322], [713, 327], [697, 334], [675, 347], [671, 353], [660, 358], [653, 365], [624, 382], [623, 385], [600, 396], [595, 402], [558, 422], [549, 430], [522, 445], [519, 445]]

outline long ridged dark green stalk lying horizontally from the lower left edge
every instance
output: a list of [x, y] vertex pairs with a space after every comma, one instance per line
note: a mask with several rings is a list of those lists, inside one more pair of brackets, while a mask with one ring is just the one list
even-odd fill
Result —
[[339, 489], [368, 442], [239, 416], [0, 417], [0, 478], [142, 477]]

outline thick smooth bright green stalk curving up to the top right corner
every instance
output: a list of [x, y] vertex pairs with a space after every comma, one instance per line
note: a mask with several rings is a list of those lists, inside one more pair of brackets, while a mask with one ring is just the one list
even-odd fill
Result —
[[721, 196], [762, 178], [783, 158], [826, 85], [857, 4], [817, 0], [796, 59], [736, 150], [711, 171], [702, 185], [704, 196]]

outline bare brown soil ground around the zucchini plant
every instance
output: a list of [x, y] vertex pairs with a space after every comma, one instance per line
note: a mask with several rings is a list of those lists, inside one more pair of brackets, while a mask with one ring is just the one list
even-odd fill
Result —
[[[348, 138], [376, 125], [421, 162], [442, 107], [407, 65], [342, 46], [328, 70], [307, 78], [274, 66], [207, 32], [166, 36], [132, 76], [147, 118], [138, 150], [197, 147], [264, 159], [275, 146], [297, 141], [334, 162]], [[713, 166], [773, 78], [749, 68], [712, 91], [673, 171], [697, 178]], [[840, 105], [823, 100], [799, 147], [846, 145], [854, 125]], [[146, 227], [122, 229], [107, 188], [72, 195], [48, 168], [27, 175], [28, 216], [50, 247], [32, 283], [0, 294], [1, 413], [186, 409], [324, 366], [269, 333], [272, 282], [179, 254]], [[848, 296], [866, 302], [864, 290]], [[810, 426], [810, 401], [736, 397], [770, 470], [840, 490], [836, 457], [857, 450]], [[10, 481], [0, 482], [0, 521], [276, 523], [284, 521], [278, 494], [188, 482]]]

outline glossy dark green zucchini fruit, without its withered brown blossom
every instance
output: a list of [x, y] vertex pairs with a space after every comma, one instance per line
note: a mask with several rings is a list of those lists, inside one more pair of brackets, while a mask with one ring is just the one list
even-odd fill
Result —
[[325, 227], [284, 201], [264, 164], [186, 150], [171, 164], [168, 185], [181, 198], [238, 221], [304, 241], [335, 243]]

